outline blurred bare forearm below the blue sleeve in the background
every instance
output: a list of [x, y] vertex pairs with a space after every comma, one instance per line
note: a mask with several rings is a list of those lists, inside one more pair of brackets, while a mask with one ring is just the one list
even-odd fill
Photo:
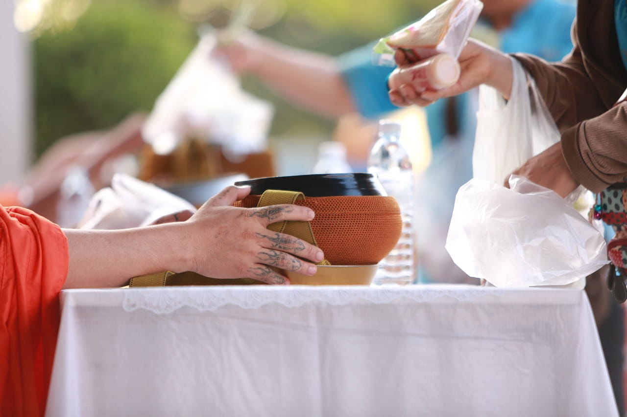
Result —
[[330, 56], [261, 41], [264, 58], [251, 72], [307, 110], [337, 117], [356, 111], [337, 61]]

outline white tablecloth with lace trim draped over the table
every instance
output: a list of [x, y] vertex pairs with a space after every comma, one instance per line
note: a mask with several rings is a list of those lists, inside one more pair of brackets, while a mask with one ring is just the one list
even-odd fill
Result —
[[615, 416], [584, 292], [72, 290], [48, 416]]

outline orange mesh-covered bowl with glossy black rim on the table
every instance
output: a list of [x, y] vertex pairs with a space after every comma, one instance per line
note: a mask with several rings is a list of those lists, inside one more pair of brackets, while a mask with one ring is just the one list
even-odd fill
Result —
[[332, 265], [374, 265], [394, 248], [401, 235], [401, 213], [370, 173], [295, 175], [238, 181], [250, 185], [238, 207], [256, 207], [266, 190], [302, 192], [295, 202], [314, 210], [311, 227], [317, 245]]

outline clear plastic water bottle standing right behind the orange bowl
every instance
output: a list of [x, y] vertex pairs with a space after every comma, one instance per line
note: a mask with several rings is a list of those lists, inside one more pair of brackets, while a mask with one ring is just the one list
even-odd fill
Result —
[[412, 216], [414, 173], [407, 150], [401, 145], [401, 124], [379, 121], [379, 138], [368, 158], [368, 172], [376, 174], [387, 195], [396, 198], [401, 208], [403, 229], [398, 243], [379, 262], [374, 284], [406, 285], [414, 282], [416, 262]]

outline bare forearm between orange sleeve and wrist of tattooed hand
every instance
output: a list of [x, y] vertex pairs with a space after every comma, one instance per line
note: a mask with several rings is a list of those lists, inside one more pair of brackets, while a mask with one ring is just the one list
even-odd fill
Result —
[[65, 229], [70, 262], [63, 287], [120, 287], [137, 275], [187, 270], [191, 250], [186, 248], [186, 227], [172, 223], [123, 230]]

